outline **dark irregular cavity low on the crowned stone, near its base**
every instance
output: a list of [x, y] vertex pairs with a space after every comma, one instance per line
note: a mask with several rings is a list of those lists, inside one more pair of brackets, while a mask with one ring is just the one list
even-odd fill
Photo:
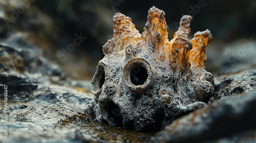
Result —
[[113, 102], [110, 103], [109, 115], [111, 117], [111, 120], [113, 121], [112, 124], [110, 124], [111, 126], [123, 127], [123, 116], [121, 114], [121, 110]]

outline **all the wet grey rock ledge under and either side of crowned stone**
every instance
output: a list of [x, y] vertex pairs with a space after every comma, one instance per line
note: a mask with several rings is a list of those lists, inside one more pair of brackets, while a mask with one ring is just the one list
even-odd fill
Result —
[[[69, 79], [16, 34], [0, 42], [0, 142], [255, 142], [256, 66], [216, 77], [208, 106], [157, 133], [94, 123], [90, 81]], [[8, 140], [3, 129], [8, 86]]]

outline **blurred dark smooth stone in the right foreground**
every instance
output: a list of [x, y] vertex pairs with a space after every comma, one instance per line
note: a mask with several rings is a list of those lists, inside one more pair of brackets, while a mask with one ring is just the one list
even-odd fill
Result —
[[[167, 125], [152, 140], [154, 142], [199, 142], [255, 130], [255, 112], [255, 91], [240, 96], [224, 97], [208, 107]], [[255, 134], [250, 138], [255, 140]], [[236, 141], [236, 138], [232, 141]]]

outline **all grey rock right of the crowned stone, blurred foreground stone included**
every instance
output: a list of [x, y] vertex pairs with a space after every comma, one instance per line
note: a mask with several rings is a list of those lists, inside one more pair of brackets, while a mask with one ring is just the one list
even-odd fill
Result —
[[251, 68], [216, 77], [209, 106], [177, 119], [151, 140], [255, 142], [256, 66]]

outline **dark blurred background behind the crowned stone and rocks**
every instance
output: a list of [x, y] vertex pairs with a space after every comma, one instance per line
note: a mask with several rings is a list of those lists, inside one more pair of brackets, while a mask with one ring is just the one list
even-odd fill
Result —
[[[255, 62], [255, 49], [248, 50], [246, 45], [247, 49], [241, 50], [248, 41], [254, 44], [256, 38], [254, 1], [1, 0], [0, 38], [19, 33], [40, 47], [50, 61], [60, 64], [68, 76], [91, 80], [103, 57], [102, 45], [112, 37], [113, 15], [121, 12], [130, 16], [142, 32], [152, 6], [165, 11], [169, 39], [183, 14], [193, 16], [190, 37], [197, 31], [211, 31], [214, 38], [207, 47], [206, 67], [215, 75], [227, 73], [220, 71], [223, 65], [229, 67], [246, 59]], [[76, 45], [75, 35], [84, 38]]]

